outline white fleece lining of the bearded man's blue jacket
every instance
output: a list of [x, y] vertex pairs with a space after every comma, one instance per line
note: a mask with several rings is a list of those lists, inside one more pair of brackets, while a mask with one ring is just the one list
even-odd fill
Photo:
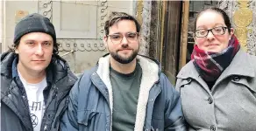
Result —
[[[135, 121], [134, 130], [143, 130], [144, 121], [146, 119], [146, 105], [149, 97], [149, 91], [153, 87], [154, 83], [160, 78], [160, 64], [154, 60], [145, 56], [138, 55], [136, 58], [142, 69], [142, 77], [139, 88], [139, 99], [137, 107], [137, 115]], [[98, 68], [96, 73], [103, 80], [103, 83], [108, 88], [110, 110], [113, 111], [113, 93], [110, 83], [110, 55], [107, 54], [98, 61]]]

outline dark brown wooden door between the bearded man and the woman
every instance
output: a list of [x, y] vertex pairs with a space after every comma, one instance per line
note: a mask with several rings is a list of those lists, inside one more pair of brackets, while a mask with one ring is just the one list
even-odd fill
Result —
[[163, 71], [174, 84], [179, 64], [181, 39], [181, 1], [166, 1], [162, 66]]

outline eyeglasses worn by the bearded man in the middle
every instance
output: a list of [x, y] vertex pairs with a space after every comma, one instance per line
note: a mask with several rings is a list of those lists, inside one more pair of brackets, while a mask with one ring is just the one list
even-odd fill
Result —
[[122, 42], [124, 36], [127, 39], [127, 41], [129, 41], [131, 43], [138, 41], [139, 32], [127, 32], [127, 33], [125, 33], [125, 35], [123, 35], [121, 33], [115, 33], [115, 34], [111, 34], [111, 35], [107, 35], [107, 36], [110, 37], [113, 44], [117, 45]]

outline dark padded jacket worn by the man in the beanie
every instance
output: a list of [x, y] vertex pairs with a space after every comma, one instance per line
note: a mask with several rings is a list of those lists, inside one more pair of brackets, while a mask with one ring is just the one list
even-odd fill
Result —
[[[32, 131], [32, 120], [25, 88], [17, 73], [18, 55], [6, 52], [1, 56], [1, 130]], [[68, 105], [68, 93], [76, 77], [70, 72], [67, 62], [54, 55], [46, 68], [47, 87], [43, 94], [46, 110], [41, 130], [58, 130], [60, 115]]]

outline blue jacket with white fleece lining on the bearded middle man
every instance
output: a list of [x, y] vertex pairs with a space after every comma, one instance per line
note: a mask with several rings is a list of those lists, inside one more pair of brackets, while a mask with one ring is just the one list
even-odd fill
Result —
[[[186, 130], [179, 93], [155, 60], [142, 56], [137, 59], [142, 78], [134, 130]], [[61, 131], [111, 130], [113, 96], [109, 76], [110, 56], [84, 72], [69, 94], [68, 110], [60, 121]]]

